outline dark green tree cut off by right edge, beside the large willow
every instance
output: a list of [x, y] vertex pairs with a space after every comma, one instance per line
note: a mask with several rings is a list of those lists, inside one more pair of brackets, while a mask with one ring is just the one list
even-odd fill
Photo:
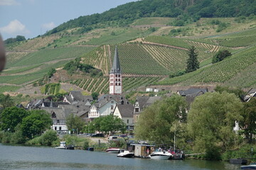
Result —
[[252, 137], [256, 135], [256, 98], [251, 98], [244, 104], [242, 116], [244, 120], [240, 123], [240, 127], [244, 129], [244, 135], [251, 143]]

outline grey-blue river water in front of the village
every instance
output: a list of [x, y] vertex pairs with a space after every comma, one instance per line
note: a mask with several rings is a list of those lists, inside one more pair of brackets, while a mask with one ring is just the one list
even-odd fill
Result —
[[117, 154], [51, 147], [24, 147], [0, 144], [0, 169], [145, 169], [145, 170], [238, 170], [239, 165], [196, 159], [154, 160], [118, 158]]

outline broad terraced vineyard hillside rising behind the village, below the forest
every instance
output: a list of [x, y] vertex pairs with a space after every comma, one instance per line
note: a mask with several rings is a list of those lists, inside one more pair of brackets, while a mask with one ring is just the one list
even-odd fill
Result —
[[[241, 3], [240, 10], [231, 15], [239, 16], [238, 18], [200, 18], [203, 16], [201, 13], [200, 19], [196, 21], [191, 20], [190, 17], [194, 16], [191, 15], [191, 11], [205, 1], [163, 0], [159, 1], [159, 4], [151, 4], [151, 7], [150, 5], [137, 6], [145, 2], [154, 4], [156, 1], [137, 1], [113, 8], [105, 12], [105, 14], [112, 13], [109, 21], [99, 20], [99, 23], [91, 23], [90, 29], [71, 24], [79, 21], [74, 19], [60, 25], [65, 26], [64, 29], [52, 30], [55, 33], [50, 31], [47, 35], [31, 40], [7, 44], [7, 64], [0, 75], [0, 91], [26, 88], [27, 85], [42, 79], [51, 68], [58, 68], [53, 79], [49, 79], [48, 82], [72, 84], [88, 93], [93, 91], [100, 94], [107, 93], [107, 76], [116, 45], [124, 74], [124, 91], [151, 84], [160, 86], [224, 84], [242, 88], [255, 87], [253, 63], [255, 62], [256, 17], [250, 15], [254, 13], [250, 11], [251, 8], [248, 8], [248, 13], [245, 13], [248, 17], [240, 16], [244, 7], [253, 5], [255, 1]], [[229, 2], [234, 4], [238, 1]], [[175, 4], [177, 11], [183, 11], [182, 16], [166, 17], [171, 15], [161, 11], [165, 3]], [[207, 6], [211, 8], [210, 6], [213, 7], [216, 4], [218, 4], [217, 1], [211, 1]], [[120, 16], [122, 19], [116, 17], [117, 11], [119, 13], [121, 9], [135, 5], [143, 15], [131, 19], [134, 11], [130, 11], [129, 17], [124, 17], [125, 15]], [[153, 6], [158, 7], [153, 8]], [[225, 1], [223, 6], [231, 8], [228, 1]], [[220, 12], [217, 13], [217, 9], [215, 10], [214, 16], [223, 16]], [[122, 12], [128, 13], [127, 10]], [[190, 17], [184, 18], [188, 14]], [[101, 15], [95, 14], [95, 17], [100, 18]], [[88, 17], [85, 16], [85, 18]], [[84, 17], [78, 19], [83, 21]], [[179, 20], [184, 21], [184, 24], [176, 24]], [[67, 24], [70, 27], [66, 27]], [[170, 74], [184, 72], [187, 51], [192, 45], [198, 52], [201, 68], [196, 72], [169, 79]], [[223, 62], [211, 64], [213, 55], [223, 49], [229, 50], [233, 55]], [[78, 57], [81, 57], [82, 63], [101, 69], [103, 77], [90, 77], [81, 72], [68, 75], [61, 69], [70, 60]]]

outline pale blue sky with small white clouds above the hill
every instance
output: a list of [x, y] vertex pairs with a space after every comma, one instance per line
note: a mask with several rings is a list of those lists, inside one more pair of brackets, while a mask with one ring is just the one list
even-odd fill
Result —
[[0, 0], [0, 35], [26, 39], [46, 33], [79, 16], [102, 13], [138, 0]]

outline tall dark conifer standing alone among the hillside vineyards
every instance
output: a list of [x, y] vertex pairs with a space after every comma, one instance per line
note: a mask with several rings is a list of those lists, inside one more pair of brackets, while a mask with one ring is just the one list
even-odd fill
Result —
[[193, 72], [199, 69], [198, 52], [195, 52], [196, 47], [192, 46], [188, 49], [188, 60], [186, 65], [186, 72]]

